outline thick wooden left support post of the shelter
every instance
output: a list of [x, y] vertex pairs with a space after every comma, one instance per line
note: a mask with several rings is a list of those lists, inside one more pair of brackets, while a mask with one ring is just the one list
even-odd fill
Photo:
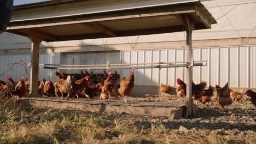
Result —
[[30, 69], [30, 93], [27, 97], [39, 97], [38, 94], [38, 67], [39, 67], [39, 47], [42, 38], [32, 35], [31, 39], [31, 69]]

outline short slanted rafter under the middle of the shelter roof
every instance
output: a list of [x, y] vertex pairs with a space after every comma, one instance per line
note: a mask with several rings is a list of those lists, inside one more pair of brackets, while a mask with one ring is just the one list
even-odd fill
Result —
[[87, 22], [87, 23], [83, 23], [83, 25], [86, 26], [86, 27], [90, 27], [92, 29], [95, 29], [96, 31], [98, 31], [100, 33], [104, 33], [104, 34], [107, 34], [109, 36], [112, 36], [112, 37], [117, 37], [118, 36], [117, 33], [115, 33], [112, 29], [110, 29], [106, 26], [103, 26], [98, 22]]

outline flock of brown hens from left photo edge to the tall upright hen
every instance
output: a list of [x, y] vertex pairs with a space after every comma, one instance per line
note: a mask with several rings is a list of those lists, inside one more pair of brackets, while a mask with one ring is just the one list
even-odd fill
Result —
[[[85, 71], [85, 74], [81, 70], [81, 74], [75, 74], [74, 76], [62, 75], [56, 71], [57, 82], [53, 83], [48, 80], [41, 80], [38, 82], [38, 93], [40, 96], [48, 97], [77, 97], [77, 98], [93, 98], [100, 96], [102, 100], [110, 100], [111, 97], [118, 98], [118, 93], [124, 97], [124, 101], [127, 103], [127, 96], [129, 96], [134, 87], [134, 71], [131, 71], [130, 77], [123, 77], [119, 82], [119, 75], [115, 70], [114, 75], [111, 70], [108, 74], [103, 70], [103, 76], [94, 75], [93, 70], [89, 74]], [[20, 98], [25, 98], [30, 92], [30, 82], [25, 81], [23, 77], [18, 83], [15, 83], [11, 77], [8, 78], [9, 83], [0, 81], [0, 94], [11, 92], [14, 95], [18, 95]]]

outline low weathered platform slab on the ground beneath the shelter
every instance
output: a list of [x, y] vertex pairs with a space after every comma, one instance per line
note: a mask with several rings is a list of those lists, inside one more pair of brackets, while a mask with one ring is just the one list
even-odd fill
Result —
[[53, 109], [73, 109], [91, 112], [129, 113], [131, 115], [165, 116], [168, 119], [183, 116], [183, 103], [171, 103], [165, 101], [132, 101], [129, 104], [121, 100], [97, 100], [97, 99], [72, 99], [61, 98], [23, 98], [22, 103], [28, 103], [34, 107], [50, 107]]

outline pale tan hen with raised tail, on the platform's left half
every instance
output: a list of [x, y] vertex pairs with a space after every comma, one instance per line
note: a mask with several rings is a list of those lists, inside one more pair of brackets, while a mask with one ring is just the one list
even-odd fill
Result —
[[61, 93], [61, 98], [63, 98], [63, 94], [67, 94], [67, 98], [71, 95], [71, 76], [68, 75], [66, 80], [59, 79], [57, 80], [57, 87]]

